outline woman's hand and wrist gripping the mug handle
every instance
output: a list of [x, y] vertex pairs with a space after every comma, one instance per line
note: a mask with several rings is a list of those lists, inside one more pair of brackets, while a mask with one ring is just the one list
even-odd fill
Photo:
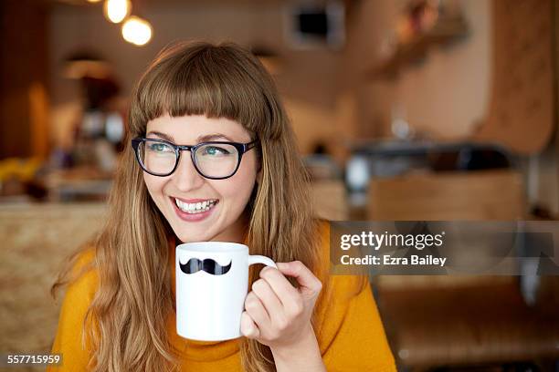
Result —
[[[286, 367], [323, 367], [311, 325], [322, 283], [299, 261], [277, 265], [278, 270], [262, 269], [260, 279], [252, 284], [241, 316], [241, 332], [269, 346], [278, 368], [282, 360]], [[299, 288], [293, 287], [284, 275], [296, 278]]]

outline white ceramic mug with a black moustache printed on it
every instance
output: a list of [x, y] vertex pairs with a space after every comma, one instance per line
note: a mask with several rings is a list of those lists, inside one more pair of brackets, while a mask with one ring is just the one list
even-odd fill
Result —
[[183, 243], [176, 247], [176, 333], [200, 341], [241, 336], [240, 319], [248, 294], [248, 266], [268, 257], [249, 255], [239, 243]]

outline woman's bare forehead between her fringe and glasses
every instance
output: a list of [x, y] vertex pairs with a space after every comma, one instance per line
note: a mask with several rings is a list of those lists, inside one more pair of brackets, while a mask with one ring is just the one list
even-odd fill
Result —
[[162, 117], [148, 121], [146, 133], [155, 130], [173, 138], [175, 143], [188, 144], [199, 137], [222, 134], [230, 140], [246, 142], [250, 140], [248, 130], [237, 121], [227, 118], [207, 118], [204, 115], [182, 117]]

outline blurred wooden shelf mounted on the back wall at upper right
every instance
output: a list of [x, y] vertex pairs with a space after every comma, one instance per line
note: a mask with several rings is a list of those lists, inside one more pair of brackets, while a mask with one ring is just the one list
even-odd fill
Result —
[[423, 60], [429, 49], [448, 46], [465, 38], [468, 33], [469, 27], [462, 17], [439, 20], [427, 32], [399, 44], [391, 57], [367, 71], [366, 76], [371, 79], [396, 78], [403, 67]]

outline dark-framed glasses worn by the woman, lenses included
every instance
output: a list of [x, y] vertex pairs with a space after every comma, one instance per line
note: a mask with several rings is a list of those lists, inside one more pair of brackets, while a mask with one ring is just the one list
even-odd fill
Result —
[[132, 140], [132, 148], [142, 170], [153, 176], [166, 177], [172, 174], [181, 159], [181, 150], [186, 150], [190, 151], [190, 158], [200, 175], [210, 180], [224, 180], [237, 172], [243, 155], [254, 148], [257, 142], [210, 141], [188, 146], [139, 137]]

